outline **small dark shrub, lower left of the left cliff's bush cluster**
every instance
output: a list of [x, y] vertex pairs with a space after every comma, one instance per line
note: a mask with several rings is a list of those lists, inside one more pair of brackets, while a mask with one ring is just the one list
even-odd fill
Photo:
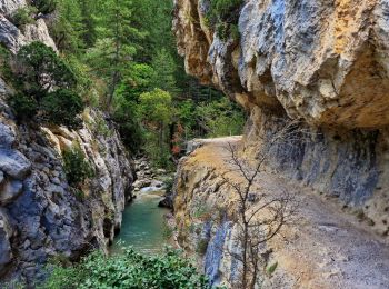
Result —
[[31, 120], [38, 112], [38, 102], [23, 93], [11, 96], [8, 103], [20, 120]]

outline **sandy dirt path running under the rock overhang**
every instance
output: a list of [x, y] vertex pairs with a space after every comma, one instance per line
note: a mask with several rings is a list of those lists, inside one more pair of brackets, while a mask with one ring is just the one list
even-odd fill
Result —
[[[229, 158], [222, 148], [239, 141], [237, 137], [208, 140], [189, 161], [222, 170]], [[343, 212], [337, 200], [269, 172], [261, 173], [257, 185], [269, 195], [286, 188], [299, 202], [298, 221], [269, 243], [279, 262], [279, 278], [282, 271], [295, 277], [288, 281], [291, 288], [389, 288], [389, 247], [368, 225]]]

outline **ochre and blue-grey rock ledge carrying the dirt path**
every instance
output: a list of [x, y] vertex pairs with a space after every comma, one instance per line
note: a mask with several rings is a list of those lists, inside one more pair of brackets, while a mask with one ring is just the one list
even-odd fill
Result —
[[[236, 237], [240, 202], [225, 179], [243, 178], [237, 170], [229, 171], [231, 156], [226, 147], [236, 141], [206, 142], [183, 158], [173, 196], [179, 243], [198, 258], [212, 285], [228, 288], [240, 288], [235, 282], [242, 268], [233, 257], [242, 252]], [[277, 196], [282, 190], [295, 196], [299, 206], [293, 221], [262, 243], [258, 288], [387, 288], [389, 248], [371, 232], [371, 222], [345, 213], [335, 199], [317, 196], [275, 173], [262, 171], [251, 188], [257, 197]], [[263, 202], [253, 199], [250, 210], [261, 206]], [[261, 210], [258, 221], [266, 219], [266, 213]], [[266, 268], [276, 262], [270, 278]]]

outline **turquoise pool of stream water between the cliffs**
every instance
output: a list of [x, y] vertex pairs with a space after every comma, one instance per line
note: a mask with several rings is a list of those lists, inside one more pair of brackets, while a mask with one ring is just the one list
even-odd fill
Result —
[[120, 233], [110, 249], [111, 253], [120, 253], [123, 246], [132, 246], [143, 253], [161, 252], [168, 243], [164, 215], [169, 211], [158, 207], [163, 191], [144, 188], [137, 198], [127, 206]]

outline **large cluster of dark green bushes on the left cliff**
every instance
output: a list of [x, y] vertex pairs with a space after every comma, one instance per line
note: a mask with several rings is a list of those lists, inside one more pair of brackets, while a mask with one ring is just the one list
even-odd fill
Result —
[[82, 83], [81, 73], [41, 42], [22, 47], [16, 56], [16, 71], [9, 70], [8, 73], [13, 74], [17, 89], [9, 99], [17, 117], [30, 120], [39, 116], [49, 123], [79, 128], [81, 120], [78, 114], [84, 104], [74, 90], [78, 83]]

